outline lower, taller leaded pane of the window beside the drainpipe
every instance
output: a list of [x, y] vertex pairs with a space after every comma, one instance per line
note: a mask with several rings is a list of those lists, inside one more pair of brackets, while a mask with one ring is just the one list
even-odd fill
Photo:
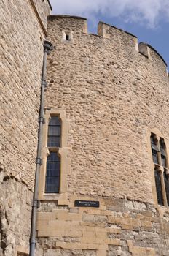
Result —
[[59, 193], [60, 188], [60, 157], [57, 152], [50, 152], [47, 157], [46, 193]]

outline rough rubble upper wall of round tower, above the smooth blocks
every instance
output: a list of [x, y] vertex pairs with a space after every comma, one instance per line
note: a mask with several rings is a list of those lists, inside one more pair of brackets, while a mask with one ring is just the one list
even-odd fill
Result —
[[[135, 37], [118, 29], [109, 27], [107, 39], [83, 34], [84, 20], [72, 18], [73, 27], [71, 18], [50, 19], [55, 50], [48, 61], [46, 107], [66, 110], [70, 119], [70, 192], [152, 203], [147, 135], [157, 127], [168, 138], [165, 64], [152, 51], [152, 59], [138, 53]], [[63, 29], [73, 31], [73, 42], [62, 42]]]

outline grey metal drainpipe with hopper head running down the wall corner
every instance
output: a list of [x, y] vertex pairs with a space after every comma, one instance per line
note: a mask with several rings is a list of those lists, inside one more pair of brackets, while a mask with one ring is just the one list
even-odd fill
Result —
[[31, 238], [30, 238], [30, 251], [29, 256], [34, 256], [35, 245], [36, 245], [36, 213], [38, 208], [38, 190], [39, 190], [39, 171], [42, 165], [42, 126], [44, 121], [44, 89], [47, 86], [46, 82], [46, 71], [47, 71], [47, 54], [53, 50], [52, 43], [44, 41], [44, 59], [42, 67], [42, 83], [41, 83], [41, 98], [40, 98], [40, 109], [39, 109], [39, 134], [38, 134], [38, 146], [37, 146], [37, 157], [36, 157], [36, 173], [35, 173], [35, 184], [34, 184], [34, 200], [32, 206], [31, 215]]

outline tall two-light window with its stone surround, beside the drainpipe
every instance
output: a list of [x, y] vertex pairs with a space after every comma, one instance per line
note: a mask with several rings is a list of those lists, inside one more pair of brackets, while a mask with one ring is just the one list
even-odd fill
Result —
[[44, 110], [39, 200], [55, 199], [58, 203], [66, 203], [67, 179], [71, 170], [69, 127], [70, 121], [65, 110]]

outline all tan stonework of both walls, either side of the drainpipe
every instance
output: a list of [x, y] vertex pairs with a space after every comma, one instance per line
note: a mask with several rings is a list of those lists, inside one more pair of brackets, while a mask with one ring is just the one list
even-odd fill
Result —
[[[166, 64], [132, 34], [51, 15], [49, 1], [0, 3], [0, 255], [28, 255], [43, 40], [48, 58], [36, 256], [169, 255], [169, 213], [157, 204], [149, 137], [168, 149]], [[44, 192], [47, 124], [62, 124], [60, 193]], [[168, 152], [167, 152], [168, 153]], [[75, 206], [75, 200], [99, 207]]]

